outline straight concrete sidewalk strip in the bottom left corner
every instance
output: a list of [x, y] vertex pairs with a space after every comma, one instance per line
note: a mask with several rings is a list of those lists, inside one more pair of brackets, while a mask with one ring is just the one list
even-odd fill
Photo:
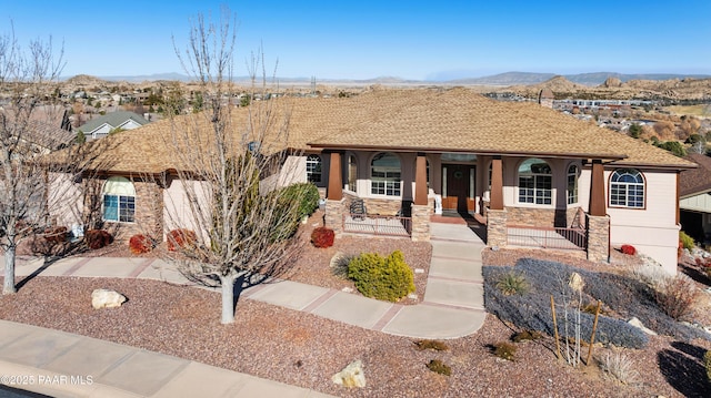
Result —
[[0, 397], [36, 397], [24, 391], [50, 397], [330, 397], [168, 355], [2, 320]]

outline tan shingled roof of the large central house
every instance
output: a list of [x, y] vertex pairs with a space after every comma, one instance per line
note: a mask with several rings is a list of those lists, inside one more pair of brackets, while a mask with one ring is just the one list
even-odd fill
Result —
[[[231, 111], [229, 130], [234, 132], [232, 140], [237, 147], [250, 141], [246, 135], [250, 130], [248, 120], [263, 120], [266, 113], [260, 112], [268, 111], [276, 111], [273, 114], [281, 118], [269, 125], [271, 135], [263, 150], [272, 152], [286, 147], [389, 149], [594, 157], [615, 164], [672, 169], [694, 166], [667, 151], [551, 109], [533, 103], [498, 102], [467, 89], [380, 89], [352, 98], [284, 96], [254, 101], [250, 108]], [[194, 116], [153, 122], [100, 140], [110, 140], [107, 144], [113, 147], [109, 171], [158, 173], [189, 169], [191, 165], [181, 165], [180, 156], [169, 150], [173, 145], [168, 141], [176, 131], [190, 131], [192, 137], [186, 139], [191, 142], [188, 146], [204, 145], [210, 123]], [[288, 142], [274, 137], [284, 123]]]

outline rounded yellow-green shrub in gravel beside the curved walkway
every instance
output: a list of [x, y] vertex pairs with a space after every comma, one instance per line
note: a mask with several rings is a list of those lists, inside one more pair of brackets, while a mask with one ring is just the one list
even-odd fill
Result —
[[354, 257], [348, 264], [348, 277], [356, 282], [356, 288], [365, 297], [397, 302], [414, 292], [412, 269], [400, 251], [388, 257], [377, 253]]

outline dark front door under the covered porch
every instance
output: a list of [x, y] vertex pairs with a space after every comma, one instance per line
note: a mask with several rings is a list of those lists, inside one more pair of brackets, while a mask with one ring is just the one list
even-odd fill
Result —
[[474, 211], [474, 166], [469, 164], [442, 164], [442, 208]]

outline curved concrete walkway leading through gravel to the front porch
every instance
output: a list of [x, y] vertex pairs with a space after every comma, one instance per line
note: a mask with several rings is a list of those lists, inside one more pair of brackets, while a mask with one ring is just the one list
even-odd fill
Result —
[[[463, 224], [431, 224], [432, 259], [422, 303], [401, 305], [341, 290], [278, 280], [246, 289], [254, 299], [397, 336], [450, 339], [471, 335], [483, 325], [483, 242]], [[190, 284], [170, 264], [157, 258], [70, 257], [51, 265], [19, 262], [18, 276], [82, 276], [158, 279]]]

